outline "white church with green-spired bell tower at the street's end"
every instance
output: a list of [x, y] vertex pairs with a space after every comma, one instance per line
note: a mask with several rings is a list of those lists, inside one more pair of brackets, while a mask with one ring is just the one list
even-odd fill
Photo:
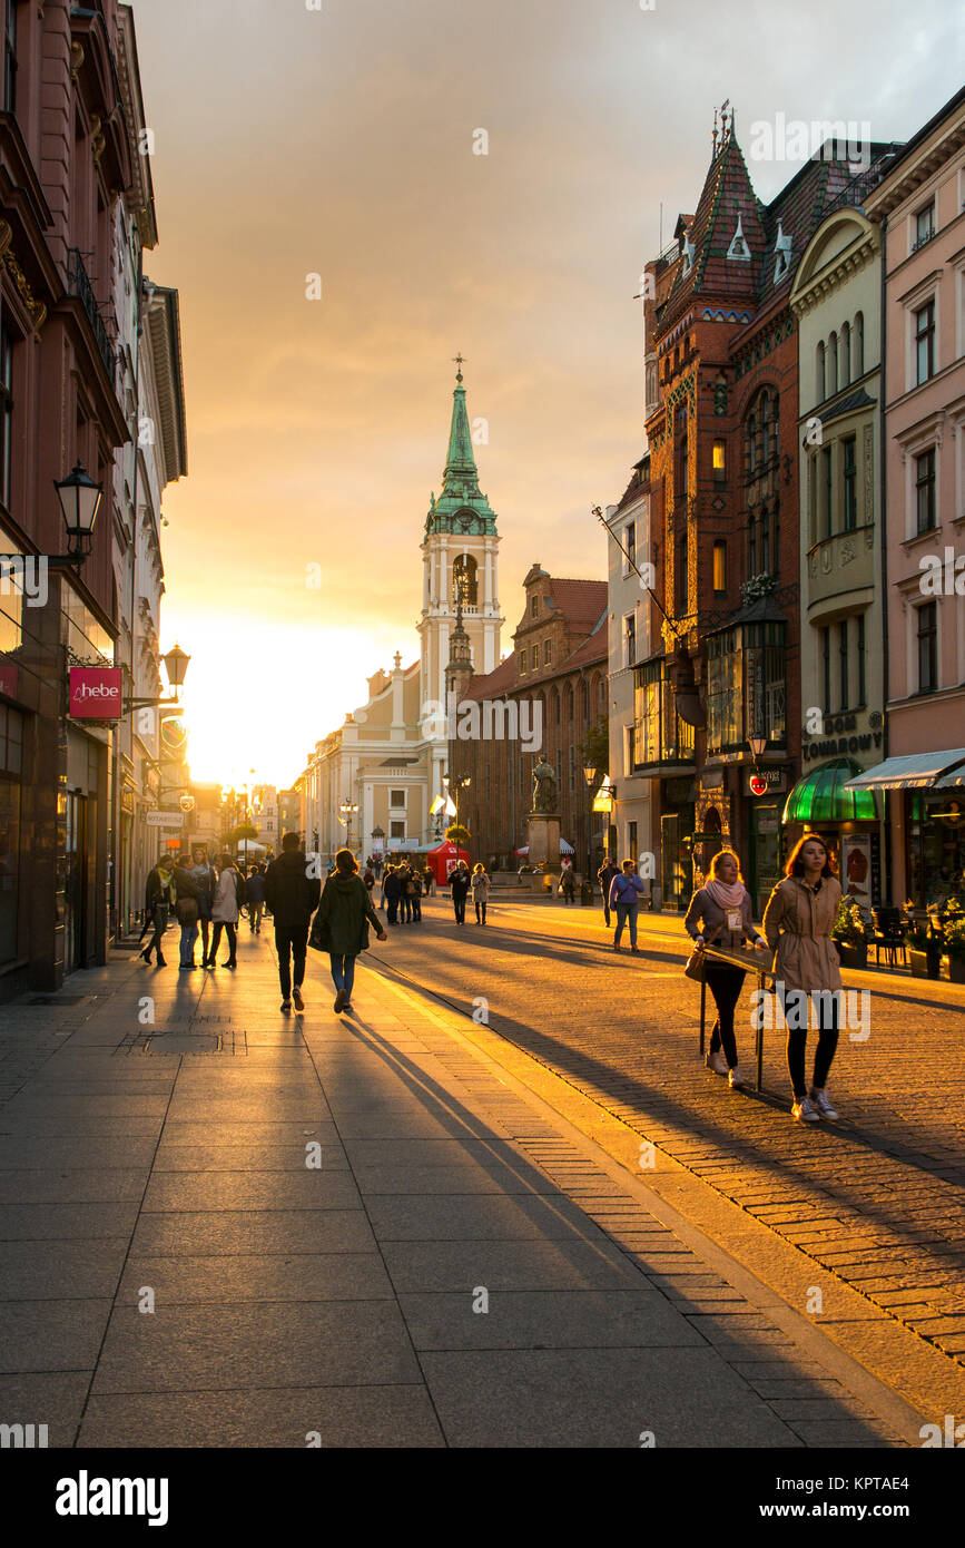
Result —
[[302, 833], [309, 850], [329, 858], [346, 844], [365, 859], [436, 842], [447, 819], [431, 814], [444, 794], [448, 741], [445, 670], [456, 611], [469, 636], [473, 669], [500, 664], [500, 536], [479, 491], [462, 370], [453, 390], [442, 489], [430, 495], [422, 537], [419, 658], [368, 680], [368, 700], [315, 743], [295, 782]]

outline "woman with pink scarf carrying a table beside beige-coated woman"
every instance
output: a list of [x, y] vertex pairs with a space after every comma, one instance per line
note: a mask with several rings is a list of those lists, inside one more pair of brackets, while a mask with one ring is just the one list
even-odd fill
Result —
[[[733, 850], [721, 850], [711, 859], [707, 885], [694, 892], [690, 899], [684, 929], [697, 947], [719, 946], [721, 950], [736, 950], [745, 940], [753, 941], [756, 947], [767, 947], [767, 941], [752, 924], [750, 893], [741, 881], [741, 862]], [[708, 960], [704, 978], [718, 1008], [707, 1068], [725, 1074], [731, 1091], [739, 1091], [745, 1082], [738, 1065], [733, 1012], [741, 997], [744, 972], [741, 968]]]

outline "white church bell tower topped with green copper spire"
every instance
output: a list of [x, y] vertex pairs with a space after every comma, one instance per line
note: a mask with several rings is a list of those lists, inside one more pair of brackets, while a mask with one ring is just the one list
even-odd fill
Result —
[[[456, 356], [456, 365], [442, 491], [438, 500], [435, 494], [430, 495], [422, 540], [422, 616], [416, 627], [422, 642], [424, 712], [428, 704], [445, 704], [445, 669], [456, 611], [461, 615], [476, 675], [498, 667], [500, 628], [504, 622], [500, 618], [496, 514], [479, 492], [461, 356]], [[465, 650], [462, 639], [459, 649]]]

